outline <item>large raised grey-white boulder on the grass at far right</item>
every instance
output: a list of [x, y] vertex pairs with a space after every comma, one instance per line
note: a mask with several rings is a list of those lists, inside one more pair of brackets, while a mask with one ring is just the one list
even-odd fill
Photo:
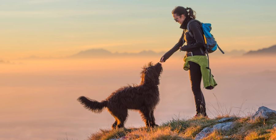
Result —
[[275, 110], [271, 110], [267, 107], [259, 107], [258, 111], [251, 117], [251, 119], [256, 119], [256, 118], [262, 118], [262, 119], [268, 119], [271, 115], [276, 115]]

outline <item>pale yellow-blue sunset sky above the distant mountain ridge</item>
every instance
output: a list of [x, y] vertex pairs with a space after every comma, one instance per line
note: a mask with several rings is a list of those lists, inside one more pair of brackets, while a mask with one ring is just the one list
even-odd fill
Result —
[[276, 44], [276, 1], [1, 0], [0, 59], [68, 56], [87, 49], [168, 51], [182, 29], [175, 6], [211, 23], [224, 51]]

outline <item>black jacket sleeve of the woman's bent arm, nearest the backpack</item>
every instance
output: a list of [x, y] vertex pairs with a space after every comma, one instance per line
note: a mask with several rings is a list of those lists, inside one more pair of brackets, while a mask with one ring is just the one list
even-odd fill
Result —
[[181, 50], [183, 50], [183, 51], [192, 51], [194, 49], [197, 49], [197, 48], [200, 48], [200, 47], [204, 46], [205, 41], [204, 41], [204, 38], [203, 38], [203, 34], [201, 33], [201, 30], [202, 30], [201, 27], [198, 24], [196, 24], [196, 22], [191, 22], [190, 23], [190, 32], [193, 33], [194, 39], [196, 40], [196, 42], [181, 47]]

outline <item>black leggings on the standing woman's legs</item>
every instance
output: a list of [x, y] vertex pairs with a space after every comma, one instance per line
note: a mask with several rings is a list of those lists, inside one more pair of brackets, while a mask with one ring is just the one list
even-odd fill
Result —
[[202, 79], [200, 65], [192, 61], [189, 61], [189, 63], [190, 63], [189, 75], [190, 75], [192, 91], [194, 94], [197, 115], [202, 114], [206, 116], [205, 99], [200, 88], [201, 79]]

